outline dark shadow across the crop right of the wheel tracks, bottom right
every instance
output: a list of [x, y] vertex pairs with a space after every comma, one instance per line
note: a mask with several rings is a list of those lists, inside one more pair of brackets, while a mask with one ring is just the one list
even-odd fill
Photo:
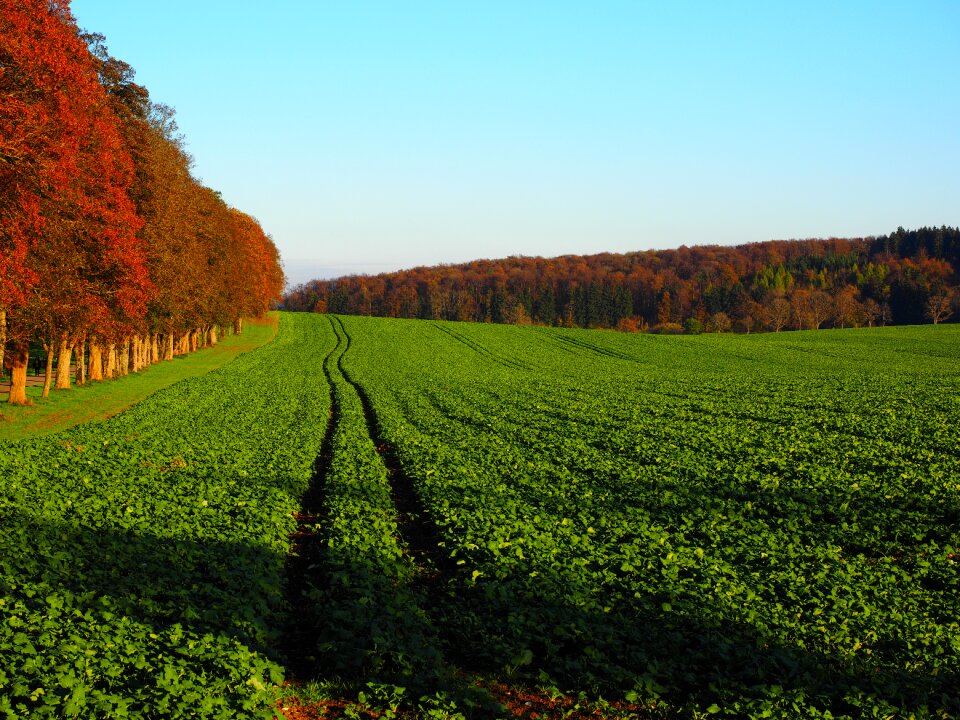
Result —
[[457, 585], [438, 626], [447, 660], [470, 672], [700, 711], [714, 703], [744, 714], [798, 706], [853, 717], [876, 707], [919, 717], [960, 711], [957, 671], [923, 674], [883, 658], [851, 662], [786, 645], [754, 625], [711, 617], [696, 602], [578, 602], [560, 575]]

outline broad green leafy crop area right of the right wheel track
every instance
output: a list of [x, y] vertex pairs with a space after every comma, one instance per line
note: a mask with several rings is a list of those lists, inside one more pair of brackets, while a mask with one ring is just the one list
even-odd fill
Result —
[[449, 662], [677, 716], [960, 712], [955, 328], [343, 323], [452, 559]]

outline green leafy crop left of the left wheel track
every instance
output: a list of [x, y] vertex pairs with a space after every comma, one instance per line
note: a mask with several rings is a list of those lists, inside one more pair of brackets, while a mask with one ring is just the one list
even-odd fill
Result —
[[273, 717], [335, 341], [283, 316], [106, 422], [0, 444], [0, 717]]

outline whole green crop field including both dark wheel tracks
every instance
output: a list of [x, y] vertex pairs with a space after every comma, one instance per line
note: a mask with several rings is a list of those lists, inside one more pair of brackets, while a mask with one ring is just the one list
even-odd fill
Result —
[[956, 717], [958, 428], [958, 326], [282, 315], [0, 443], [0, 717]]

